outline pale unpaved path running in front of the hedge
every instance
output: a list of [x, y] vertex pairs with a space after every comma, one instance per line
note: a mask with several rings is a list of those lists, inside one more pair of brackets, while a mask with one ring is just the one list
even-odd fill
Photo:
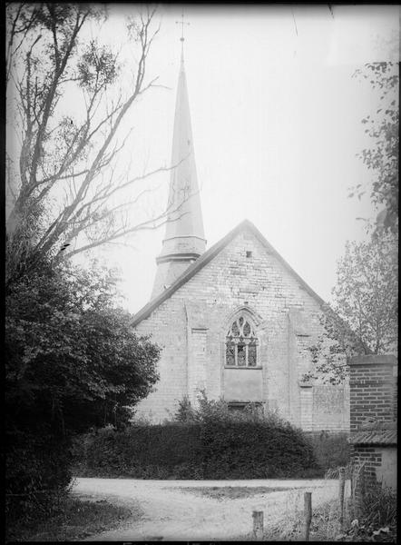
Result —
[[[214, 500], [185, 490], [192, 487], [280, 487], [248, 498]], [[132, 504], [143, 511], [139, 520], [88, 540], [238, 540], [252, 531], [252, 511], [263, 510], [265, 527], [303, 508], [303, 492], [312, 492], [312, 506], [337, 497], [338, 481], [139, 481], [136, 479], [76, 480], [73, 492], [96, 499]]]

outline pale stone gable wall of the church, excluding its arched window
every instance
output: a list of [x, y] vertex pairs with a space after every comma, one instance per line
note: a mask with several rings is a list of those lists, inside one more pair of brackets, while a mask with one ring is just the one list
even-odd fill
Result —
[[[210, 399], [224, 396], [225, 336], [239, 309], [249, 309], [256, 324], [264, 405], [296, 425], [302, 418], [308, 430], [336, 429], [331, 412], [327, 421], [318, 416], [321, 403], [314, 404], [313, 392], [301, 394], [299, 387], [311, 365], [308, 346], [322, 331], [319, 303], [248, 229], [137, 325], [163, 348], [161, 380], [139, 412], [161, 421], [184, 395], [193, 398], [197, 381], [206, 383]], [[340, 398], [346, 417], [337, 430], [348, 431], [342, 391]]]

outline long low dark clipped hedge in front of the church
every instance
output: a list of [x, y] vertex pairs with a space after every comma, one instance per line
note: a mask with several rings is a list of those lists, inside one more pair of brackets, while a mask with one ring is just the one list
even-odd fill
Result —
[[265, 421], [106, 428], [76, 441], [76, 476], [136, 479], [311, 477], [318, 464], [304, 434]]

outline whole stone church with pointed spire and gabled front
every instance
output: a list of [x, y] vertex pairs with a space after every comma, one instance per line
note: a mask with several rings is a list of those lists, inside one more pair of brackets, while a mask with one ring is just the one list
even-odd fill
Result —
[[318, 294], [249, 220], [206, 250], [183, 56], [171, 165], [152, 298], [132, 322], [162, 348], [160, 381], [137, 414], [161, 422], [205, 391], [235, 410], [258, 403], [305, 431], [349, 431], [347, 383], [304, 380], [322, 332]]

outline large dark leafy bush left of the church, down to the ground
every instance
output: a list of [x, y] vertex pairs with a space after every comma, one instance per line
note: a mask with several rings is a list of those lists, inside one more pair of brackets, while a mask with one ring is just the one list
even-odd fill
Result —
[[6, 292], [6, 493], [13, 505], [19, 499], [33, 508], [46, 491], [63, 489], [73, 434], [123, 426], [128, 406], [158, 379], [160, 350], [113, 307], [115, 281], [100, 267], [41, 263]]

